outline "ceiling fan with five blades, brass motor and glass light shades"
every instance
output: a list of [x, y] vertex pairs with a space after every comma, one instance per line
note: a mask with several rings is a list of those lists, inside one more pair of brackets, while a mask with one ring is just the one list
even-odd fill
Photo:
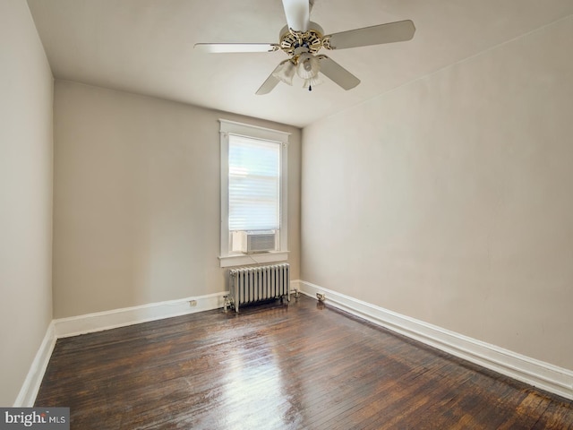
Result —
[[414, 22], [406, 20], [325, 35], [319, 24], [310, 21], [314, 0], [282, 2], [287, 25], [280, 30], [278, 43], [197, 43], [195, 48], [215, 54], [285, 52], [289, 57], [270, 73], [257, 90], [258, 95], [268, 94], [278, 82], [292, 85], [295, 74], [304, 79], [304, 88], [308, 90], [321, 83], [319, 73], [343, 89], [351, 90], [360, 80], [328, 56], [318, 54], [321, 48], [334, 50], [400, 42], [412, 39], [415, 33]]

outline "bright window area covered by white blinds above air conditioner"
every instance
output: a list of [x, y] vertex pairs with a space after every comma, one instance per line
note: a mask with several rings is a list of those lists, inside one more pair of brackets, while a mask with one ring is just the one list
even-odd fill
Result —
[[229, 230], [273, 230], [279, 217], [280, 143], [229, 135]]

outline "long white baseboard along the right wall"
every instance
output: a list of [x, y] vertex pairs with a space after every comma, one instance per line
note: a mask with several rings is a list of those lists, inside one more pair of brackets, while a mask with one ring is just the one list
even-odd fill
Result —
[[535, 358], [397, 314], [304, 280], [295, 280], [292, 284], [293, 288], [297, 288], [306, 296], [316, 297], [317, 292], [325, 293], [327, 304], [349, 314], [354, 314], [371, 323], [422, 341], [434, 348], [439, 348], [518, 381], [573, 400], [573, 371], [569, 369], [553, 366]]

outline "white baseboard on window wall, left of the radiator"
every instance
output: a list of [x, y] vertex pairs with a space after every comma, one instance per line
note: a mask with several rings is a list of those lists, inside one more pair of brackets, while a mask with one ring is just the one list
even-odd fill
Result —
[[[223, 297], [228, 293], [216, 293], [199, 297], [186, 297], [166, 302], [150, 303], [112, 311], [98, 312], [60, 318], [54, 320], [56, 338], [67, 338], [79, 334], [104, 331], [133, 325], [147, 323], [185, 314], [210, 311], [223, 307]], [[192, 302], [195, 304], [192, 305]]]

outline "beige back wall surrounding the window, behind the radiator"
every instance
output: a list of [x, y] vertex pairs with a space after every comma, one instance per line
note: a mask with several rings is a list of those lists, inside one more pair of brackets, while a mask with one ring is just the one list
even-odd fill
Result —
[[298, 278], [299, 129], [56, 81], [56, 318], [226, 290], [218, 118], [293, 133], [288, 243]]

